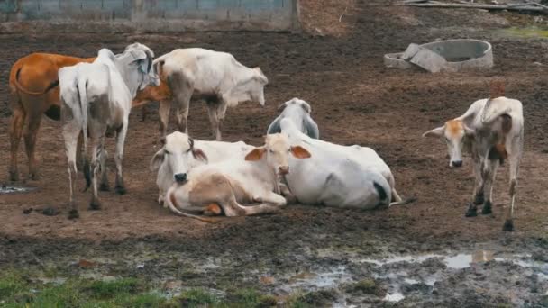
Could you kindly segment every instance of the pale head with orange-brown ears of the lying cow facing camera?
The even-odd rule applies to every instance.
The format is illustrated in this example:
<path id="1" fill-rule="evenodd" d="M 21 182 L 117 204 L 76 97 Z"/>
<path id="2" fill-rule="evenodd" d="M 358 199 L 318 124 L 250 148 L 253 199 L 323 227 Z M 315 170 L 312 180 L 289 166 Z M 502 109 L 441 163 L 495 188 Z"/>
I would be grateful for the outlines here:
<path id="1" fill-rule="evenodd" d="M 266 163 L 271 170 L 274 170 L 279 176 L 285 176 L 289 173 L 289 153 L 297 159 L 307 159 L 310 157 L 310 153 L 305 148 L 301 146 L 291 147 L 288 136 L 277 133 L 267 135 L 265 137 L 265 145 L 252 149 L 245 156 L 245 160 L 266 159 Z"/>

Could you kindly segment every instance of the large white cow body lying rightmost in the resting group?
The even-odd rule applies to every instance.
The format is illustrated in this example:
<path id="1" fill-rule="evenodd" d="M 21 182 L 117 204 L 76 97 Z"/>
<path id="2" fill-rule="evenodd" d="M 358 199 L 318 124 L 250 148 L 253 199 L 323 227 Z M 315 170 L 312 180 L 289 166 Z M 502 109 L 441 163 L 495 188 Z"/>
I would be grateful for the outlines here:
<path id="1" fill-rule="evenodd" d="M 397 195 L 390 168 L 373 149 L 312 139 L 288 118 L 280 127 L 291 144 L 302 145 L 311 154 L 303 161 L 289 159 L 291 172 L 285 179 L 299 202 L 373 209 L 413 201 Z"/>

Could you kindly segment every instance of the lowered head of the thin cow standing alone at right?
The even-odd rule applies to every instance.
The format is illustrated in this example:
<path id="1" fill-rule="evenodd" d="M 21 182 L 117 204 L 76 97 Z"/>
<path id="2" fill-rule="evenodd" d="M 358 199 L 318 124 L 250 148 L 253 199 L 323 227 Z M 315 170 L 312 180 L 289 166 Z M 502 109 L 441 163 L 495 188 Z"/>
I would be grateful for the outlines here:
<path id="1" fill-rule="evenodd" d="M 474 135 L 474 131 L 464 122 L 455 119 L 432 131 L 426 131 L 423 137 L 443 138 L 449 152 L 449 167 L 458 168 L 462 166 L 462 150 L 468 146 Z"/>

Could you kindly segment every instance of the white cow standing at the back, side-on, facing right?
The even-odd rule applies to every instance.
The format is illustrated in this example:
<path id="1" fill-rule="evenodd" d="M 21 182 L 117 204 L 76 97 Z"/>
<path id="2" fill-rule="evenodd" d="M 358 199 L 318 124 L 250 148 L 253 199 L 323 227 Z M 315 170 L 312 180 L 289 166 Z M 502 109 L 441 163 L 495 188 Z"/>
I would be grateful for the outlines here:
<path id="1" fill-rule="evenodd" d="M 227 107 L 245 101 L 264 101 L 264 86 L 269 79 L 260 68 L 247 68 L 233 55 L 214 50 L 189 48 L 173 50 L 154 61 L 165 86 L 142 91 L 134 104 L 160 102 L 160 133 L 168 131 L 171 101 L 177 108 L 178 130 L 188 133 L 190 99 L 204 99 L 216 140 L 221 140 L 221 127 Z M 164 84 L 164 83 L 162 83 Z"/>

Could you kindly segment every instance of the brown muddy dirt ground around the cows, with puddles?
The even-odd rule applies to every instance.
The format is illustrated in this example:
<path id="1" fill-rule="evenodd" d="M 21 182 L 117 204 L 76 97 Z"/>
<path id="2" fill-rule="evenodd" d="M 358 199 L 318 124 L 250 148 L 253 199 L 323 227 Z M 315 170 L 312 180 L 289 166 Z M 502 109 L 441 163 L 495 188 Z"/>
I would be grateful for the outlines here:
<path id="1" fill-rule="evenodd" d="M 270 81 L 267 106 L 230 109 L 225 140 L 259 145 L 278 104 L 297 96 L 312 104 L 324 140 L 376 149 L 392 168 L 400 195 L 418 198 L 375 212 L 293 205 L 276 215 L 224 218 L 215 224 L 176 217 L 156 204 L 156 175 L 148 166 L 159 132 L 157 106 L 151 105 L 145 122 L 139 112 L 131 117 L 123 161 L 129 194 L 102 193 L 104 209 L 89 212 L 88 194 L 78 193 L 81 218 L 69 221 L 60 125 L 44 118 L 38 144 L 41 180 L 17 184 L 38 188 L 0 195 L 0 269 L 33 268 L 40 275 L 53 266 L 62 275 L 140 276 L 167 293 L 195 286 L 219 294 L 253 287 L 278 296 L 279 303 L 301 292 L 313 306 L 548 306 L 548 41 L 508 31 L 544 22 L 533 15 L 384 3 L 350 5 L 342 16 L 344 31 L 337 35 L 324 35 L 333 29 L 0 34 L 2 180 L 9 161 L 7 77 L 15 59 L 32 51 L 92 56 L 102 47 L 120 51 L 140 41 L 157 55 L 199 46 L 260 66 Z M 339 15 L 332 20 L 338 23 Z M 307 29 L 315 28 L 313 22 L 307 21 Z M 383 66 L 385 53 L 405 50 L 411 42 L 452 38 L 489 40 L 495 68 L 434 75 Z M 494 214 L 465 218 L 473 188 L 470 160 L 464 168 L 450 169 L 442 141 L 421 138 L 487 97 L 489 80 L 499 77 L 507 82 L 507 96 L 525 108 L 525 157 L 513 233 L 501 231 L 509 201 L 507 166 L 499 171 Z M 196 139 L 210 139 L 204 104 L 191 106 L 189 131 Z M 107 149 L 114 151 L 112 140 Z M 109 167 L 114 181 L 114 161 Z M 23 149 L 20 171 L 24 178 Z M 83 179 L 78 186 L 84 186 Z M 47 207 L 59 215 L 23 213 Z M 78 267 L 80 259 L 94 266 Z"/>

